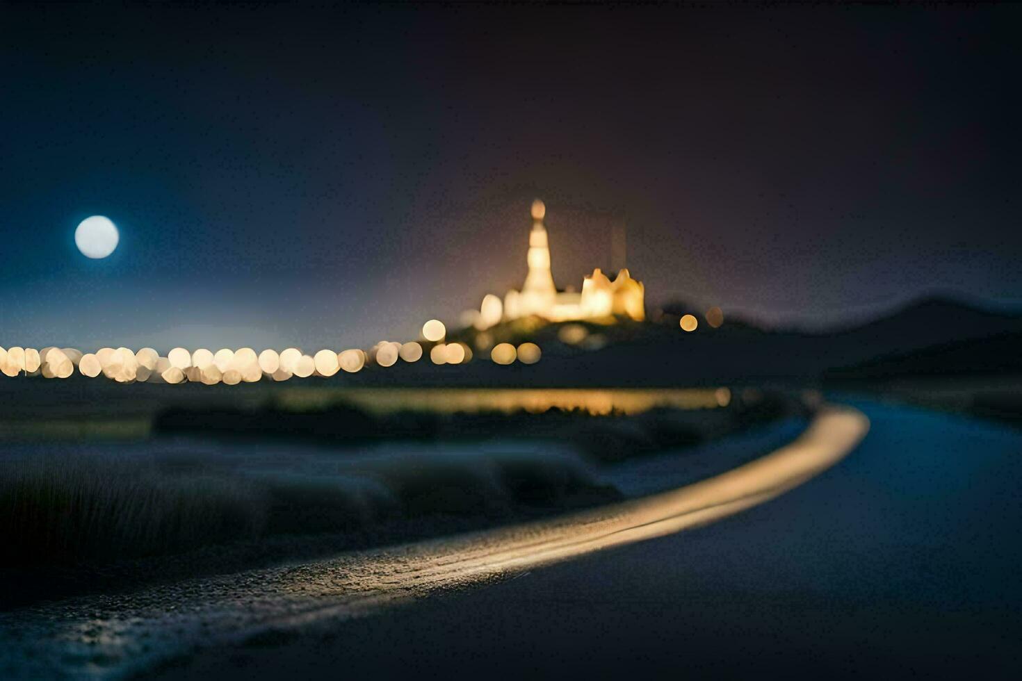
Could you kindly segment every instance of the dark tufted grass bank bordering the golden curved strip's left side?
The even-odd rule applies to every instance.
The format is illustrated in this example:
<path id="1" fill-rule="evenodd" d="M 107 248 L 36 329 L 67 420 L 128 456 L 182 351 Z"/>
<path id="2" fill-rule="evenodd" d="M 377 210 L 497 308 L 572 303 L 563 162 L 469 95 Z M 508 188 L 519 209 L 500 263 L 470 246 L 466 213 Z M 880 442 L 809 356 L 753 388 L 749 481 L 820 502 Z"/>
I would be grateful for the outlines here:
<path id="1" fill-rule="evenodd" d="M 341 455 L 258 444 L 191 455 L 33 455 L 0 461 L 0 536 L 14 565 L 102 564 L 278 534 L 429 515 L 612 498 L 564 451 L 396 447 Z"/>

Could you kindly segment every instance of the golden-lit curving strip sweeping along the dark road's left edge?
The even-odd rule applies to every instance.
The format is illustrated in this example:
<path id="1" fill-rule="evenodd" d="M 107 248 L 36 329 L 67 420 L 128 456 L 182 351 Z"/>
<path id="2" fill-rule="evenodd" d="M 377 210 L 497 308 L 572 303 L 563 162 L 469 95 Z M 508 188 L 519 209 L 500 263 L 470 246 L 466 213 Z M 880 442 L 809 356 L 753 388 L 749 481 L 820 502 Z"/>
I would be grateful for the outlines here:
<path id="1" fill-rule="evenodd" d="M 669 492 L 511 528 L 11 614 L 2 623 L 3 671 L 8 677 L 124 676 L 197 649 L 329 626 L 436 591 L 705 525 L 830 468 L 868 428 L 860 411 L 834 407 L 794 442 Z"/>

